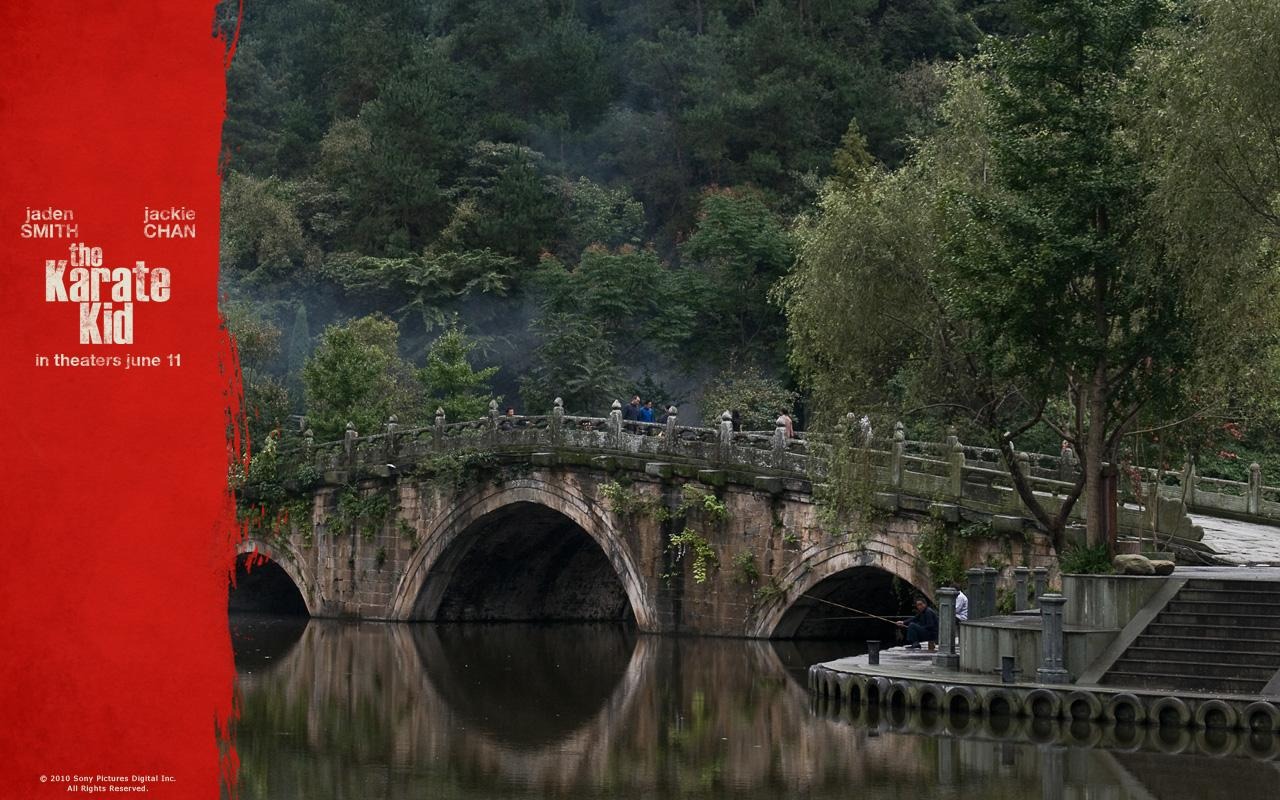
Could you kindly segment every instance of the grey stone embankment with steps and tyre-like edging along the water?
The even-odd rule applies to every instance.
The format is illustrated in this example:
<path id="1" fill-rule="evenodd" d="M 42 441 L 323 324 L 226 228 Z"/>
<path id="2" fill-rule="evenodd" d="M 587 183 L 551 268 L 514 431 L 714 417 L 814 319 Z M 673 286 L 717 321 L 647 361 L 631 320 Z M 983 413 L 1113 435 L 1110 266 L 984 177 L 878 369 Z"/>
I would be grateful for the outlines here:
<path id="1" fill-rule="evenodd" d="M 980 576 L 970 591 L 977 617 L 959 626 L 959 654 L 952 595 L 940 591 L 936 654 L 891 649 L 815 664 L 814 695 L 847 707 L 1280 735 L 1280 570 L 1065 576 L 1065 596 L 1042 595 L 1039 614 L 1004 617 L 987 613 Z"/>

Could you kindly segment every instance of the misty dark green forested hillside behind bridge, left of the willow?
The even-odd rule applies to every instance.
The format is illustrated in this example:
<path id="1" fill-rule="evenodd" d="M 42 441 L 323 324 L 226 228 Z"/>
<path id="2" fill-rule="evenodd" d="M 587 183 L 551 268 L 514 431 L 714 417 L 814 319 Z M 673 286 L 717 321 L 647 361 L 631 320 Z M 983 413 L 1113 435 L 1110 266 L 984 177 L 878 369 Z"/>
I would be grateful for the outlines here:
<path id="1" fill-rule="evenodd" d="M 1001 29 L 995 5 L 247 3 L 224 292 L 288 332 L 253 375 L 300 412 L 302 353 L 383 314 L 415 366 L 457 319 L 492 390 L 530 412 L 643 388 L 691 419 L 731 364 L 782 388 L 768 292 L 791 219 L 851 123 L 902 160 L 933 124 L 931 64 Z"/>

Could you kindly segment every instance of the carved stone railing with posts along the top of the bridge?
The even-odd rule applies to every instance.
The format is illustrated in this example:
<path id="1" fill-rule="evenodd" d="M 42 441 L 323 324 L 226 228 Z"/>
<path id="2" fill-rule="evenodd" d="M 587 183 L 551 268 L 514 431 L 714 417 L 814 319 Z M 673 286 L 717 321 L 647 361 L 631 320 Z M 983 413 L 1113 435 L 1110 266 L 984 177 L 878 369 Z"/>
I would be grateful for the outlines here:
<path id="1" fill-rule="evenodd" d="M 945 442 L 908 439 L 901 422 L 891 436 L 874 436 L 860 430 L 851 415 L 835 434 L 787 436 L 782 425 L 772 433 L 735 431 L 727 413 L 716 428 L 681 425 L 675 407 L 662 422 L 623 420 L 617 402 L 607 417 L 567 415 L 557 398 L 548 415 L 503 416 L 490 403 L 485 417 L 451 422 L 438 410 L 430 426 L 404 428 L 393 417 L 383 430 L 361 434 L 348 424 L 337 442 L 315 442 L 310 431 L 294 433 L 283 436 L 278 449 L 282 458 L 308 463 L 320 472 L 425 461 L 460 451 L 571 448 L 678 457 L 820 480 L 837 436 L 851 442 L 854 457 L 865 463 L 876 483 L 890 489 L 927 498 L 965 499 L 1007 513 L 1025 511 L 1001 451 L 964 444 L 954 433 Z M 1079 476 L 1074 453 L 1019 452 L 1015 457 L 1037 499 L 1056 511 Z M 1129 502 L 1146 504 L 1151 494 L 1158 494 L 1181 500 L 1190 511 L 1280 521 L 1280 486 L 1265 485 L 1256 463 L 1249 481 L 1198 476 L 1189 458 L 1180 471 L 1152 467 L 1126 471 L 1142 484 L 1140 492 L 1126 489 L 1123 499 Z M 1078 503 L 1075 512 L 1083 513 L 1083 504 Z"/>

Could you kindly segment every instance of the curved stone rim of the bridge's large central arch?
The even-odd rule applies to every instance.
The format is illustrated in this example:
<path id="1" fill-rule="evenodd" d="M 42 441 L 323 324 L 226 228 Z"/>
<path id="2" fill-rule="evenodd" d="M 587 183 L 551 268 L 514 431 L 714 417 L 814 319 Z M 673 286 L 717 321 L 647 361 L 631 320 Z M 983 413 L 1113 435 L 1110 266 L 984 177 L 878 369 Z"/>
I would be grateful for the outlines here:
<path id="1" fill-rule="evenodd" d="M 590 484 L 588 484 L 590 485 Z M 390 603 L 392 620 L 434 618 L 445 593 L 475 543 L 502 529 L 507 517 L 532 509 L 544 518 L 562 517 L 590 538 L 603 552 L 630 603 L 640 630 L 657 630 L 658 614 L 645 588 L 636 558 L 612 516 L 579 484 L 548 483 L 538 477 L 483 485 L 463 494 L 452 508 L 434 518 L 410 558 Z"/>

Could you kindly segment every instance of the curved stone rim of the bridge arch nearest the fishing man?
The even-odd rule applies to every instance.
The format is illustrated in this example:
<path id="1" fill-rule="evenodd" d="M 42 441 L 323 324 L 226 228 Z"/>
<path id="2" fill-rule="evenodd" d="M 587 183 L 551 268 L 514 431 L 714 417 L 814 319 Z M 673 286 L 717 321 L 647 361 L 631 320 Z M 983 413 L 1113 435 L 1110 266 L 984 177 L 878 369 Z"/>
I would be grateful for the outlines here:
<path id="1" fill-rule="evenodd" d="M 933 599 L 928 576 L 919 567 L 915 547 L 906 535 L 877 536 L 856 550 L 847 543 L 810 548 L 778 576 L 778 582 L 787 588 L 786 595 L 758 614 L 750 635 L 767 639 L 803 635 L 806 618 L 819 607 L 838 616 L 840 608 L 833 603 L 891 616 L 905 613 L 915 594 Z M 895 584 L 905 596 L 893 591 Z M 876 608 L 867 602 L 838 599 L 841 590 L 850 588 L 888 596 Z"/>

